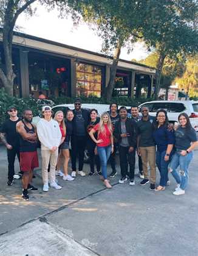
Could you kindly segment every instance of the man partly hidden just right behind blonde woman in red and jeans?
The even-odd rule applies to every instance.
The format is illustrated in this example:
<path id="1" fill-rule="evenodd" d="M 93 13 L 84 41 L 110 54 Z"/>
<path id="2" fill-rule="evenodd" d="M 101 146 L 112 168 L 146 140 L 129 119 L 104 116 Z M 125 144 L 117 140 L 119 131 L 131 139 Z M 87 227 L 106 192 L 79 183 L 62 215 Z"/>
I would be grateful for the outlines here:
<path id="1" fill-rule="evenodd" d="M 115 123 L 119 120 L 120 116 L 118 115 L 118 105 L 117 103 L 113 102 L 109 106 L 109 116 L 111 118 L 111 123 L 113 126 L 113 129 L 115 129 Z M 118 143 L 116 138 L 114 137 L 114 152 L 109 157 L 109 162 L 111 163 L 112 172 L 109 175 L 109 177 L 114 178 L 117 175 L 117 170 L 115 168 L 115 154 L 118 149 Z"/>

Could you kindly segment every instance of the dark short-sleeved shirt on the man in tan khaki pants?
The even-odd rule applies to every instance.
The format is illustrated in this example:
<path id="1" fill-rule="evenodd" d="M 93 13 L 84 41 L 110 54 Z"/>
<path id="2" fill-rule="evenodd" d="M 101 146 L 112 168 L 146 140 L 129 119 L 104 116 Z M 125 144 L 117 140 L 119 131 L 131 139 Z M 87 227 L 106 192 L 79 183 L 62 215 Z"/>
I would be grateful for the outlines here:
<path id="1" fill-rule="evenodd" d="M 148 121 L 144 121 L 143 119 L 141 119 L 137 122 L 137 133 L 138 135 L 140 135 L 140 147 L 155 146 L 155 142 L 152 137 L 152 121 L 153 118 L 149 116 Z"/>

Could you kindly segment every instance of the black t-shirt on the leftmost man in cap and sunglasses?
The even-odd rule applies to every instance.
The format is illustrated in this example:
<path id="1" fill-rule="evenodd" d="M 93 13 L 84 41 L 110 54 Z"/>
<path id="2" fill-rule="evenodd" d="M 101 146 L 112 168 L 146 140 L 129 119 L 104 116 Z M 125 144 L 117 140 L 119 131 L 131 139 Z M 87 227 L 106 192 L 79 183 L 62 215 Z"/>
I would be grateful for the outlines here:
<path id="1" fill-rule="evenodd" d="M 10 145 L 19 148 L 19 133 L 16 132 L 16 124 L 21 121 L 18 119 L 17 121 L 11 121 L 8 119 L 2 124 L 1 132 L 5 133 L 7 143 Z"/>

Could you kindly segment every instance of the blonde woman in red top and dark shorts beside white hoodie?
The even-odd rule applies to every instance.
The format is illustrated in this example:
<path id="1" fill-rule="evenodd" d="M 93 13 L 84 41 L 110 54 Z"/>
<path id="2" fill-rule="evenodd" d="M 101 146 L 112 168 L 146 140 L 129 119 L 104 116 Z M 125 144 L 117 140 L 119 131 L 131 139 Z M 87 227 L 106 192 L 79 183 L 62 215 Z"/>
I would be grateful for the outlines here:
<path id="1" fill-rule="evenodd" d="M 66 124 L 64 122 L 64 113 L 63 111 L 58 111 L 55 113 L 55 117 L 54 119 L 58 122 L 60 130 L 61 130 L 61 134 L 62 134 L 62 138 L 61 138 L 61 144 L 60 144 L 60 153 L 58 155 L 58 162 L 56 165 L 56 175 L 59 175 L 61 177 L 63 177 L 63 180 L 74 180 L 72 176 L 70 176 L 68 174 L 68 162 L 69 162 L 69 158 L 68 158 L 68 154 L 66 150 L 67 148 L 65 147 L 65 138 L 66 138 Z M 61 171 L 61 160 L 63 159 L 63 170 L 64 173 Z"/>

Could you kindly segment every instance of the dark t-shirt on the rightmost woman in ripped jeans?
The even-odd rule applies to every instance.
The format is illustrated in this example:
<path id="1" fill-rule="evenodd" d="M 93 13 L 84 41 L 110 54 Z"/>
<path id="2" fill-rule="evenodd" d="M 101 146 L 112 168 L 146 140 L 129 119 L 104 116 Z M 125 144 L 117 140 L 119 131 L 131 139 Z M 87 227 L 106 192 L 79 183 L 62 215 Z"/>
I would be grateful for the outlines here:
<path id="1" fill-rule="evenodd" d="M 179 126 L 175 132 L 176 136 L 176 149 L 186 150 L 191 146 L 191 142 L 197 141 L 196 131 L 192 129 L 186 129 Z"/>

